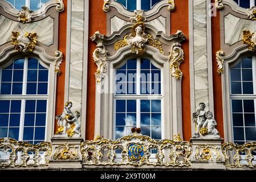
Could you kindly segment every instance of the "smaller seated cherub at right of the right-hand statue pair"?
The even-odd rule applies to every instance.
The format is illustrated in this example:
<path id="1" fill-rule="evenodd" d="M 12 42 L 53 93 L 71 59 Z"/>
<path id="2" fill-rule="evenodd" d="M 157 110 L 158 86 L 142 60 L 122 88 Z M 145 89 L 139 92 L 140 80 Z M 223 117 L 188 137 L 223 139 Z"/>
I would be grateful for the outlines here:
<path id="1" fill-rule="evenodd" d="M 213 113 L 208 111 L 206 114 L 206 120 L 202 128 L 207 129 L 207 133 L 209 135 L 219 135 L 218 130 L 216 129 L 217 122 L 213 119 Z"/>

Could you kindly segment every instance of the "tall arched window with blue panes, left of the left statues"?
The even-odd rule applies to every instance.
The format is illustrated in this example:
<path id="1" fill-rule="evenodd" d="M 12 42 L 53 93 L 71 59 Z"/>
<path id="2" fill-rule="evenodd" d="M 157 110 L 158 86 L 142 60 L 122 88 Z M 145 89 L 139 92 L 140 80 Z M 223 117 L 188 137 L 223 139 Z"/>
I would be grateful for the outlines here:
<path id="1" fill-rule="evenodd" d="M 48 67 L 33 57 L 0 68 L 0 138 L 45 140 Z"/>

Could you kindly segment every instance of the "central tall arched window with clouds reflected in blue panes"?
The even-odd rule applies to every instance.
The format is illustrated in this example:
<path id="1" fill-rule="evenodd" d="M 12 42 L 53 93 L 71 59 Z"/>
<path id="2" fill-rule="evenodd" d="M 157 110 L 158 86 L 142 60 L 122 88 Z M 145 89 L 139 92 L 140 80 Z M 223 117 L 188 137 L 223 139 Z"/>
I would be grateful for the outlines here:
<path id="1" fill-rule="evenodd" d="M 141 134 L 162 138 L 162 69 L 144 58 L 129 59 L 115 70 L 114 132 L 118 139 L 140 127 Z"/>

